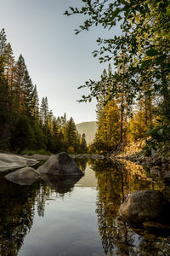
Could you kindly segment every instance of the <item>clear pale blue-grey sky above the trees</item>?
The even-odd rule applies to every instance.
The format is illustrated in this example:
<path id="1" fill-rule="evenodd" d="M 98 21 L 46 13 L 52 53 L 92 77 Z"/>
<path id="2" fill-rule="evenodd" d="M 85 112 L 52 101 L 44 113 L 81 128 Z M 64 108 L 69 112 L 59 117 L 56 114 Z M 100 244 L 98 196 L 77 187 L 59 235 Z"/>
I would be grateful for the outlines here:
<path id="1" fill-rule="evenodd" d="M 93 57 L 96 39 L 117 33 L 95 26 L 76 36 L 74 30 L 84 17 L 63 14 L 81 4 L 81 0 L 0 0 L 0 30 L 5 29 L 15 60 L 24 56 L 40 102 L 47 96 L 54 116 L 66 113 L 76 124 L 96 119 L 95 100 L 77 102 L 88 94 L 87 89 L 77 87 L 88 79 L 99 80 L 108 67 Z"/>

